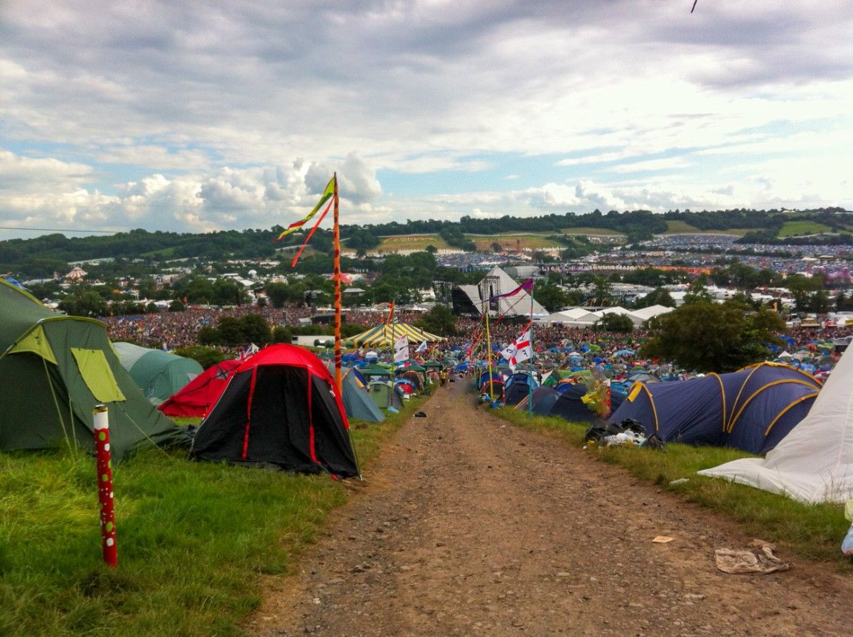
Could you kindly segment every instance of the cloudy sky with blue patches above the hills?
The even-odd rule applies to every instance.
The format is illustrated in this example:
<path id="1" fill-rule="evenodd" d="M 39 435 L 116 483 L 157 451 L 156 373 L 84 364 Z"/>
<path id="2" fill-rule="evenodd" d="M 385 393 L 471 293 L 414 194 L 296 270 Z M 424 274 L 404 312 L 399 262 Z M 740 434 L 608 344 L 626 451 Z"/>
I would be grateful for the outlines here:
<path id="1" fill-rule="evenodd" d="M 853 3 L 692 6 L 0 0 L 0 240 L 853 209 Z"/>

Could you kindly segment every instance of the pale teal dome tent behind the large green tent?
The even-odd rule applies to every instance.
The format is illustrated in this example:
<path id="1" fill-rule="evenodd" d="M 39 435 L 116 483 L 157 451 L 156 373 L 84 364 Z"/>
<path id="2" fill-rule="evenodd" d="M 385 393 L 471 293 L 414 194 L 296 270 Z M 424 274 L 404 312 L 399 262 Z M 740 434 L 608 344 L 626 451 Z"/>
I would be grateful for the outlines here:
<path id="1" fill-rule="evenodd" d="M 121 366 L 151 402 L 165 401 L 204 371 L 192 358 L 151 350 L 132 343 L 113 343 Z"/>

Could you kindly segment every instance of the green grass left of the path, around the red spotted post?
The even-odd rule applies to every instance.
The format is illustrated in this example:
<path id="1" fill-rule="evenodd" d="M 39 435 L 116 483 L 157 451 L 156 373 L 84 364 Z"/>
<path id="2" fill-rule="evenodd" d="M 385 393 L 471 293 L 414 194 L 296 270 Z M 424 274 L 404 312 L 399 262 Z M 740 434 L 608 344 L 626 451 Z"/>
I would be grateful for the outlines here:
<path id="1" fill-rule="evenodd" d="M 412 414 L 353 421 L 362 466 Z M 114 467 L 119 567 L 101 561 L 94 458 L 0 454 L 0 634 L 241 634 L 259 575 L 286 574 L 347 489 L 150 449 Z"/>

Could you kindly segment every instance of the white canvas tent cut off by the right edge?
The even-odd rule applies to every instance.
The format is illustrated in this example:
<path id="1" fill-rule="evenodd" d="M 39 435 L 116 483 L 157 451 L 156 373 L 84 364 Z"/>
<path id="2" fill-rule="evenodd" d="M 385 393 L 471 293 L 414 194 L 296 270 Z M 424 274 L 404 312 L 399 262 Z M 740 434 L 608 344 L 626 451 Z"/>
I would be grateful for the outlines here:
<path id="1" fill-rule="evenodd" d="M 846 350 L 809 414 L 766 458 L 741 458 L 699 474 L 804 502 L 853 495 L 853 354 Z"/>

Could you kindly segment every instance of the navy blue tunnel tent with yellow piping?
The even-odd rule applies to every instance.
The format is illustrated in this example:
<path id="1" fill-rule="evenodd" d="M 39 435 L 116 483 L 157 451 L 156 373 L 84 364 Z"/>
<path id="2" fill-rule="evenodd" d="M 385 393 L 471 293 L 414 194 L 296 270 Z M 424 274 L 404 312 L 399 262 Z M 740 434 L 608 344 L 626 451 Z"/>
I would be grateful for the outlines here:
<path id="1" fill-rule="evenodd" d="M 766 454 L 808 413 L 821 384 L 798 369 L 763 362 L 731 374 L 635 382 L 610 421 L 639 421 L 665 441 Z"/>

